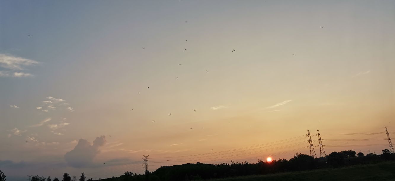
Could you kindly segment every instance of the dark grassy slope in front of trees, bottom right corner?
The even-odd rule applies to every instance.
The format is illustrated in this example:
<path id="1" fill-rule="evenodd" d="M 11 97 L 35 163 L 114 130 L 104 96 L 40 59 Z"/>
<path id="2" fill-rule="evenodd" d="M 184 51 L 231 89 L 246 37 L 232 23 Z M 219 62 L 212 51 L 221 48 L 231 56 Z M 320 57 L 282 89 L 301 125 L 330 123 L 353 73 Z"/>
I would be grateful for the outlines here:
<path id="1" fill-rule="evenodd" d="M 267 175 L 248 175 L 211 181 L 395 181 L 395 162 L 355 165 L 343 168 L 318 169 Z"/>

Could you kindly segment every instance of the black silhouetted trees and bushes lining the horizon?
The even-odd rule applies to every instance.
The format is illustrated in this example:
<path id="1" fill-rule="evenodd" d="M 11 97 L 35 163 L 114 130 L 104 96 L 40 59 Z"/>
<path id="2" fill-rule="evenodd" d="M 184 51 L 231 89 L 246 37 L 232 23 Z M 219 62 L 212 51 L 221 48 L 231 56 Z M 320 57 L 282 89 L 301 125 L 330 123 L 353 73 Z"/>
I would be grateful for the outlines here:
<path id="1" fill-rule="evenodd" d="M 324 171 L 320 171 L 320 172 L 328 172 L 327 170 L 339 170 L 339 169 L 340 170 L 354 169 L 355 171 L 355 168 L 358 168 L 358 166 L 356 167 L 354 166 L 353 168 L 348 168 L 348 167 L 353 165 L 359 165 L 359 166 L 365 165 L 365 167 L 363 167 L 363 170 L 365 170 L 364 172 L 371 173 L 371 171 L 369 171 L 370 167 L 366 165 L 380 163 L 380 164 L 391 164 L 392 165 L 391 168 L 395 167 L 394 162 L 388 162 L 388 161 L 395 161 L 395 153 L 391 153 L 387 149 L 384 149 L 382 151 L 382 155 L 368 154 L 366 156 L 364 156 L 363 153 L 361 152 L 357 154 L 353 150 L 341 151 L 341 152 L 334 151 L 329 155 L 327 155 L 326 157 L 320 157 L 316 159 L 314 159 L 310 155 L 296 153 L 290 160 L 279 159 L 279 160 L 273 160 L 271 162 L 258 160 L 257 163 L 248 163 L 246 161 L 243 163 L 231 162 L 230 164 L 229 163 L 204 164 L 199 162 L 196 164 L 187 163 L 187 164 L 174 165 L 174 166 L 161 166 L 156 171 L 152 173 L 147 172 L 145 175 L 141 175 L 141 174 L 137 175 L 134 174 L 133 172 L 125 172 L 123 175 L 120 175 L 119 177 L 112 177 L 112 178 L 101 179 L 101 180 L 103 181 L 189 181 L 189 180 L 207 180 L 207 179 L 220 179 L 220 180 L 265 179 L 266 180 L 269 179 L 269 177 L 272 177 L 273 174 L 277 175 L 276 177 L 278 179 L 275 180 L 305 180 L 303 179 L 303 177 L 301 177 L 301 175 L 303 175 L 306 172 L 312 172 L 311 170 L 316 170 L 316 169 L 324 169 Z M 344 166 L 348 166 L 348 167 L 342 168 Z M 389 173 L 392 173 L 392 177 L 395 178 L 395 169 L 393 169 L 393 171 Z M 374 173 L 372 172 L 372 174 Z M 296 175 L 299 175 L 300 177 Z M 244 177 L 239 177 L 239 176 L 244 176 Z M 369 177 L 369 178 L 373 178 L 373 177 Z M 84 173 L 82 173 L 79 181 L 85 181 L 85 179 L 86 176 Z M 314 178 L 312 179 L 314 180 Z M 337 179 L 336 175 L 329 174 L 328 172 L 328 178 L 321 180 L 335 180 L 335 179 Z M 69 174 L 64 173 L 61 180 L 71 181 L 71 177 Z M 92 179 L 87 179 L 87 181 L 91 181 L 91 180 Z M 0 181 L 6 181 L 6 176 L 1 170 L 0 170 Z M 51 181 L 51 177 L 48 176 L 48 178 L 45 178 L 36 175 L 32 177 L 32 181 Z M 55 177 L 53 181 L 59 181 L 59 179 Z"/>

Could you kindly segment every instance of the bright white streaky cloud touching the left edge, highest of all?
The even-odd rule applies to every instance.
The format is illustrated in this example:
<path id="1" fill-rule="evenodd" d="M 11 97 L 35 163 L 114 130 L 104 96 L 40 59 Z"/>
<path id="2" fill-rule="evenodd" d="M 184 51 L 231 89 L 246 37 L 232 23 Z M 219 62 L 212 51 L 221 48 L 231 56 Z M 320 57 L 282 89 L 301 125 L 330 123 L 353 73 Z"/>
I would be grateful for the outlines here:
<path id="1" fill-rule="evenodd" d="M 15 57 L 13 55 L 0 54 L 0 67 L 7 71 L 0 71 L 0 77 L 29 77 L 32 74 L 23 72 L 14 72 L 15 70 L 24 70 L 24 67 L 36 65 L 37 61 Z"/>

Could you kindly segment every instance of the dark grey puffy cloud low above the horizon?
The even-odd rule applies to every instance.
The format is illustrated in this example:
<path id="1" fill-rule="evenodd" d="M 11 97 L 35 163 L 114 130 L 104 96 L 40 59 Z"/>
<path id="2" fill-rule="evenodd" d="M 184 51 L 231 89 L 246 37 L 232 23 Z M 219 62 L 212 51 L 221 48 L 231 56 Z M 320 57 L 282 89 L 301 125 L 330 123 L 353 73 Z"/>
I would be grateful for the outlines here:
<path id="1" fill-rule="evenodd" d="M 91 166 L 94 157 L 100 153 L 99 147 L 103 146 L 105 142 L 105 136 L 96 137 L 93 145 L 87 140 L 80 139 L 77 146 L 64 155 L 64 159 L 69 166 L 75 168 Z"/>

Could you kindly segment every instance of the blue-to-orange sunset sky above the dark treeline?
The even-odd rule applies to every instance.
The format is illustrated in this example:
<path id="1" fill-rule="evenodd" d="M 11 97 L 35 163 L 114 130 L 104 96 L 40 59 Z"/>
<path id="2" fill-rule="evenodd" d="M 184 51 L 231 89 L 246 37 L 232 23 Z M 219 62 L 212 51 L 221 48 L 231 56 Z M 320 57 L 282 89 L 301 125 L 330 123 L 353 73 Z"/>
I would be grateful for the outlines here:
<path id="1" fill-rule="evenodd" d="M 326 154 L 380 153 L 394 30 L 391 0 L 1 1 L 0 170 L 289 159 L 307 129 Z"/>

